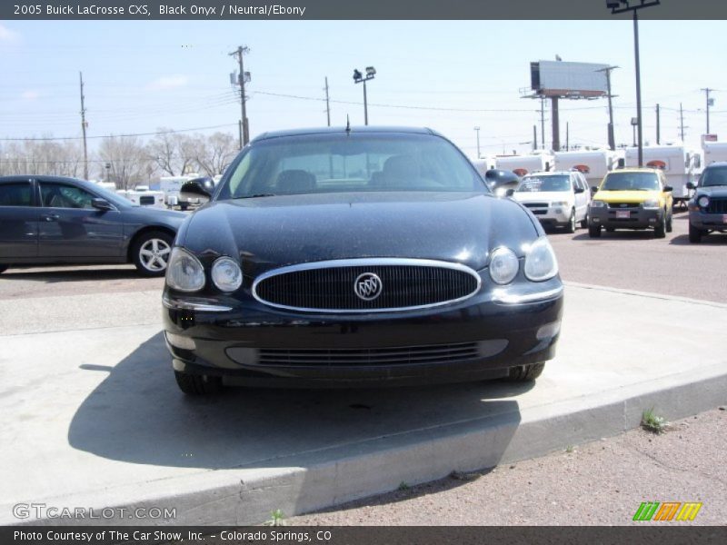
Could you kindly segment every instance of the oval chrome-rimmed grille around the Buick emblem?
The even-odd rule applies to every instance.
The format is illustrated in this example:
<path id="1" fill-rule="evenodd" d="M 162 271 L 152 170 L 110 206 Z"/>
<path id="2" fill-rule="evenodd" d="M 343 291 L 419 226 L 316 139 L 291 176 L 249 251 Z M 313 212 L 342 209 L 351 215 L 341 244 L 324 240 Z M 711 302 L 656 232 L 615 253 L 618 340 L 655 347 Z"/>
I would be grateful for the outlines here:
<path id="1" fill-rule="evenodd" d="M 373 272 L 381 294 L 364 301 L 354 282 Z M 461 301 L 480 287 L 472 269 L 456 263 L 381 258 L 305 263 L 266 272 L 253 284 L 254 297 L 272 306 L 314 312 L 385 312 Z"/>

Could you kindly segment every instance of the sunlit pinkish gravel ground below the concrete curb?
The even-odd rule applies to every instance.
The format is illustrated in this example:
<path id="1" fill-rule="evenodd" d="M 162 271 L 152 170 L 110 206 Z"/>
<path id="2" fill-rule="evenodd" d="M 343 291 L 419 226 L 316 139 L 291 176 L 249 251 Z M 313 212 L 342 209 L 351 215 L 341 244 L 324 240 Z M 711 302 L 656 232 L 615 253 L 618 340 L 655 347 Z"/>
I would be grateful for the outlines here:
<path id="1" fill-rule="evenodd" d="M 727 411 L 293 517 L 294 525 L 625 525 L 642 501 L 702 501 L 693 522 L 727 524 Z"/>

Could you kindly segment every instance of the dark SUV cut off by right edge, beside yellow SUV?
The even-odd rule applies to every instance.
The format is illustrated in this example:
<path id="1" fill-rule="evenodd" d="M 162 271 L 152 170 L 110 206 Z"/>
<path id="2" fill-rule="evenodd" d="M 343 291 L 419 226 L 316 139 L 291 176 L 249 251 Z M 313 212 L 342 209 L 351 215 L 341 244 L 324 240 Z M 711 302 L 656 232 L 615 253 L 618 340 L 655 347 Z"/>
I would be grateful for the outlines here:
<path id="1" fill-rule="evenodd" d="M 702 235 L 727 233 L 727 163 L 712 163 L 704 169 L 689 201 L 689 242 L 701 243 Z"/>

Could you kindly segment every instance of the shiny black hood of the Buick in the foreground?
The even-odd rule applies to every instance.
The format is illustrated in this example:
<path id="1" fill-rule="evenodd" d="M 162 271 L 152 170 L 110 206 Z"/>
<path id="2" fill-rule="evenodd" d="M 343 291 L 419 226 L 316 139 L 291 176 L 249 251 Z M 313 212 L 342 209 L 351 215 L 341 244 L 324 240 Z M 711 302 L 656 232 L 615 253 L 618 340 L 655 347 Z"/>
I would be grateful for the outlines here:
<path id="1" fill-rule="evenodd" d="M 205 261 L 238 255 L 254 276 L 334 259 L 408 257 L 483 269 L 499 245 L 523 254 L 542 233 L 520 204 L 482 193 L 317 193 L 237 199 L 197 210 L 177 244 Z"/>

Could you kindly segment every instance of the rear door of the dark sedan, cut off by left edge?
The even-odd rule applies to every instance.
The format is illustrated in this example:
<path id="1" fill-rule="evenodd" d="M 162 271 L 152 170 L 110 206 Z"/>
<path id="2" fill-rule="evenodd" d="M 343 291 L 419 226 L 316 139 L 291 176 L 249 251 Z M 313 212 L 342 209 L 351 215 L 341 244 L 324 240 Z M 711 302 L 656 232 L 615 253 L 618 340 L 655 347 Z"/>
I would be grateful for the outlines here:
<path id="1" fill-rule="evenodd" d="M 30 262 L 38 256 L 38 218 L 35 184 L 29 178 L 0 182 L 0 260 Z M 11 260 L 11 261 L 8 261 Z"/>

